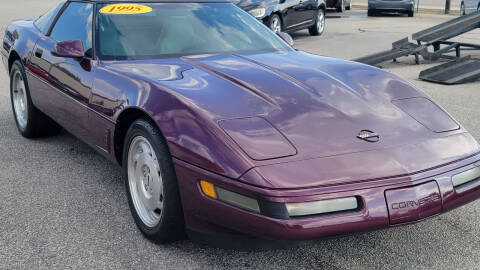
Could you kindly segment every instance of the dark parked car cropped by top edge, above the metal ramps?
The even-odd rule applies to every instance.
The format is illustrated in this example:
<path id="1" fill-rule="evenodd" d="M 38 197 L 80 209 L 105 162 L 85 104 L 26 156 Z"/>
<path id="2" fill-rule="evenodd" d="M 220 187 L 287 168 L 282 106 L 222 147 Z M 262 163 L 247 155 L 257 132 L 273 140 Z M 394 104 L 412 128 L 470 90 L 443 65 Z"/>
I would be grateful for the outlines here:
<path id="1" fill-rule="evenodd" d="M 368 16 L 383 12 L 405 13 L 408 17 L 415 14 L 414 0 L 368 0 Z"/>

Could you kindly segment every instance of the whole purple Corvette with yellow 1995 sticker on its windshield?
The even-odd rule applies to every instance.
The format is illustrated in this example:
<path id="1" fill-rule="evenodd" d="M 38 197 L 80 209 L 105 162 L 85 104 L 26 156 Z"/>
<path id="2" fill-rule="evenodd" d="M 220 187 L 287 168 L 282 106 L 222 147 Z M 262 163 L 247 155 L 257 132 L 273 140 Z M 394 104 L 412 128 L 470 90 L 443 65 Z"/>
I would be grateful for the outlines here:
<path id="1" fill-rule="evenodd" d="M 480 196 L 478 143 L 428 96 L 289 43 L 221 0 L 90 0 L 13 21 L 1 54 L 20 133 L 119 164 L 157 243 L 315 239 Z"/>

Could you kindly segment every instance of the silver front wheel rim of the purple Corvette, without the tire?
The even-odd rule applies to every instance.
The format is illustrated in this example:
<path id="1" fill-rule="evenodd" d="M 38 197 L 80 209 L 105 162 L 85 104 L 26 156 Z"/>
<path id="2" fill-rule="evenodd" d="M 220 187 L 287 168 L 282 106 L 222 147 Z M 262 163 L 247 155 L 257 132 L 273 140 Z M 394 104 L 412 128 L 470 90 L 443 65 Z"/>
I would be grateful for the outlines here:
<path id="1" fill-rule="evenodd" d="M 162 218 L 163 180 L 155 151 L 145 137 L 132 140 L 127 162 L 133 205 L 142 222 L 153 228 Z"/>

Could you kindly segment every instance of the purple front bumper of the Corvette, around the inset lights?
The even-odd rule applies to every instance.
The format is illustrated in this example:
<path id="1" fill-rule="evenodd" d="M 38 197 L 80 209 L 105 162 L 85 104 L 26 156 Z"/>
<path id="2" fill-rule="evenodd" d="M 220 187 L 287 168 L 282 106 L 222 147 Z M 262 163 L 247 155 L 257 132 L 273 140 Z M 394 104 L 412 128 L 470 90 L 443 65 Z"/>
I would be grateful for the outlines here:
<path id="1" fill-rule="evenodd" d="M 480 166 L 478 155 L 414 176 L 304 190 L 272 190 L 251 186 L 212 174 L 180 160 L 175 160 L 175 166 L 186 226 L 189 230 L 206 234 L 309 240 L 417 222 L 480 197 L 480 180 L 473 181 L 461 190 L 456 190 L 452 184 L 453 175 Z M 201 179 L 208 179 L 217 186 L 268 203 L 283 204 L 356 196 L 361 199 L 361 208 L 358 211 L 305 218 L 272 218 L 205 196 L 198 184 Z M 434 191 L 435 189 L 437 191 Z M 413 193 L 409 193 L 409 190 Z M 405 194 L 405 197 L 402 197 L 402 194 Z M 409 194 L 416 195 L 416 199 L 409 197 Z M 404 205 L 413 207 L 410 209 L 413 211 L 403 213 Z"/>

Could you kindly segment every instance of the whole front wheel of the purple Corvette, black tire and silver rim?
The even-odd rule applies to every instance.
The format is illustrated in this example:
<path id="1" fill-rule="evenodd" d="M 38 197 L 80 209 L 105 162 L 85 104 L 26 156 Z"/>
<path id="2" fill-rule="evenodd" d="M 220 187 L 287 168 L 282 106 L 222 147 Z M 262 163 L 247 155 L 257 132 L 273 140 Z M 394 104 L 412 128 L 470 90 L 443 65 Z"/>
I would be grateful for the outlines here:
<path id="1" fill-rule="evenodd" d="M 123 149 L 122 175 L 137 227 L 157 244 L 184 238 L 177 177 L 160 131 L 147 120 L 136 120 L 127 131 Z"/>

